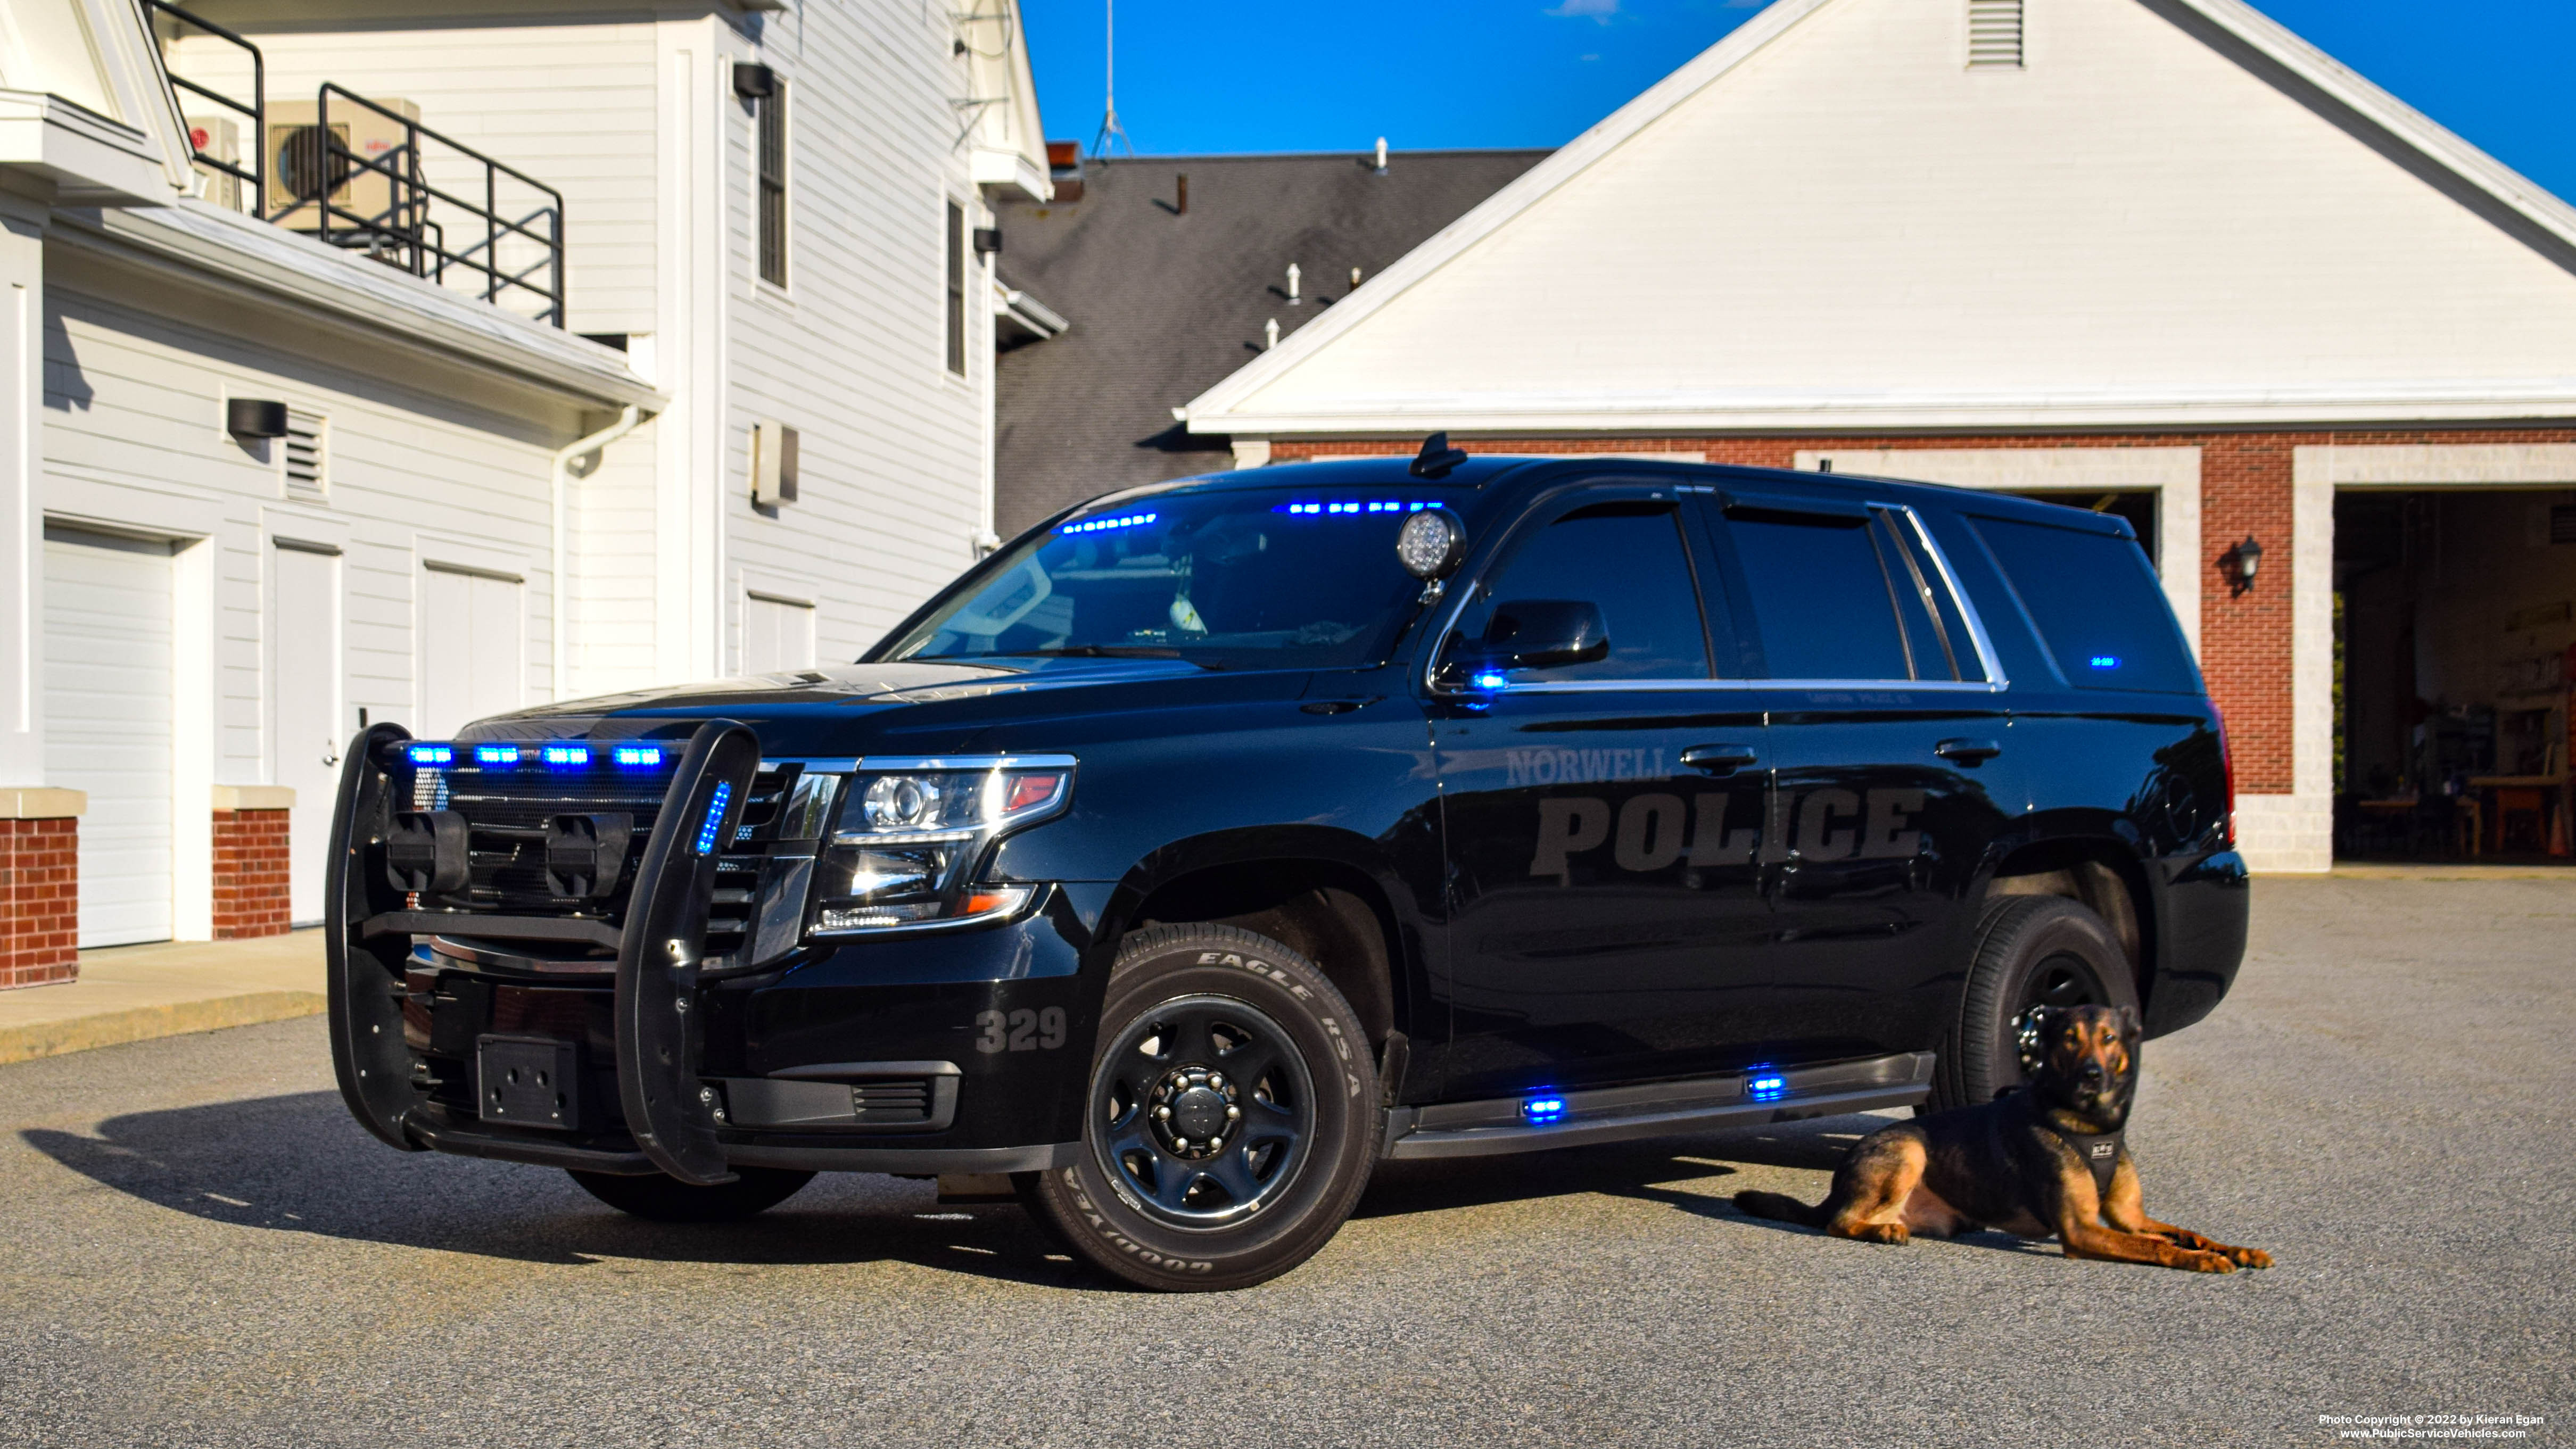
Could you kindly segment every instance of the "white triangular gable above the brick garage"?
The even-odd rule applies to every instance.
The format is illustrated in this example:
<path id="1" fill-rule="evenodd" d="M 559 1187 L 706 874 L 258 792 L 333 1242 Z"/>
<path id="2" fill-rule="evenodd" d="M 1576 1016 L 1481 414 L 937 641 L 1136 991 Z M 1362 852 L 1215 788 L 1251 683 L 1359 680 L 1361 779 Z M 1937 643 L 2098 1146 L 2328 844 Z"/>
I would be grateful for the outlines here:
<path id="1" fill-rule="evenodd" d="M 2576 414 L 2576 208 L 2239 0 L 2027 36 L 1973 75 L 1963 3 L 1777 0 L 1190 430 Z"/>

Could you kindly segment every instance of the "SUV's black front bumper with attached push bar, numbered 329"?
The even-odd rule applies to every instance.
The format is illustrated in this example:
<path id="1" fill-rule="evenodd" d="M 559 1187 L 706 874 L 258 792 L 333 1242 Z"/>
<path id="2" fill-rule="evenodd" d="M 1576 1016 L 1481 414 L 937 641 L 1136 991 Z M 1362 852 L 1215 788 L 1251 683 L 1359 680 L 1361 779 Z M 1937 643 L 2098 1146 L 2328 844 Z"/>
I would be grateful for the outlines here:
<path id="1" fill-rule="evenodd" d="M 690 770 L 701 731 L 647 844 L 616 973 L 531 970 L 464 934 L 497 921 L 415 921 L 384 885 L 392 813 L 376 762 L 399 741 L 379 726 L 350 752 L 327 932 L 343 1096 L 386 1143 L 683 1181 L 724 1181 L 734 1166 L 1007 1174 L 1072 1161 L 1100 983 L 1079 970 L 1090 932 L 1061 888 L 997 927 L 701 978 L 703 870 L 685 844 L 708 782 L 747 780 L 755 764 L 708 752 L 708 770 Z M 672 849 L 657 849 L 665 834 Z M 564 1120 L 500 1120 L 479 1081 L 492 1040 L 567 1045 Z"/>

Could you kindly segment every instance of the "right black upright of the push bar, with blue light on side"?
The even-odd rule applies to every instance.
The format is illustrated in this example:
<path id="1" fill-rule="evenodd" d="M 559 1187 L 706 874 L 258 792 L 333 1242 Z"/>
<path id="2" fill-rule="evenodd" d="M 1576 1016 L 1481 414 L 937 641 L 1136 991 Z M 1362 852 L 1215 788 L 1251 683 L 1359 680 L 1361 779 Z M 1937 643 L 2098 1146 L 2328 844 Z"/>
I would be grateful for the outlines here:
<path id="1" fill-rule="evenodd" d="M 618 945 L 618 1104 L 626 1130 L 657 1168 L 698 1186 L 734 1181 L 716 1117 L 698 1096 L 703 1032 L 696 1011 L 716 857 L 734 839 L 757 772 L 760 736 L 747 726 L 698 726 L 662 793 Z"/>

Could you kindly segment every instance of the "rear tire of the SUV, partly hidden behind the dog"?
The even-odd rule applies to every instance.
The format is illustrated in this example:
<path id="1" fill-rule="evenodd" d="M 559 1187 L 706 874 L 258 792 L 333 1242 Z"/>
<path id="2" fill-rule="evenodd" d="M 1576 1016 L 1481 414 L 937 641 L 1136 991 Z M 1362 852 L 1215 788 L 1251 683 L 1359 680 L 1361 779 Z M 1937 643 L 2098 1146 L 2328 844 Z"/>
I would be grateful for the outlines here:
<path id="1" fill-rule="evenodd" d="M 1994 1102 L 2030 1081 L 2022 1027 L 2040 1004 L 2136 1009 L 2138 981 L 2102 916 L 2063 896 L 2007 896 L 1976 924 L 1968 988 L 1924 1112 Z"/>

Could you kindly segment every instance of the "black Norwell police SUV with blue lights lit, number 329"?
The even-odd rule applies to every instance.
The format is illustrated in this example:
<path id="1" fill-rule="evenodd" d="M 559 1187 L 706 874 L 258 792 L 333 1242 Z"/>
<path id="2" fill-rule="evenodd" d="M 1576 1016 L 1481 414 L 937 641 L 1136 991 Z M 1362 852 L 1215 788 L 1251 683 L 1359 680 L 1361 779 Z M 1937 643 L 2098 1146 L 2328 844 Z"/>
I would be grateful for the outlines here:
<path id="1" fill-rule="evenodd" d="M 647 1217 L 1015 1192 L 1244 1287 L 1381 1158 L 2012 1089 L 2236 975 L 2218 713 L 2128 525 L 1419 458 L 1030 530 L 848 667 L 361 734 L 332 1050 L 407 1150 Z"/>

